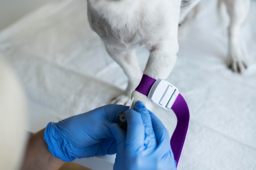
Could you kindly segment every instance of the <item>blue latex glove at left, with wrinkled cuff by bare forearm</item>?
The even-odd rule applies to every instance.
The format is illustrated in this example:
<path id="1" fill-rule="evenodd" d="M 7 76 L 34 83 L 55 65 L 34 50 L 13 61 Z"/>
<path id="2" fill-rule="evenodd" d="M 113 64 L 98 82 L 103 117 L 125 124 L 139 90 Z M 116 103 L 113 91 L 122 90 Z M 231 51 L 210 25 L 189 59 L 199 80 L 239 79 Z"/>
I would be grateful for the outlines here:
<path id="1" fill-rule="evenodd" d="M 115 154 L 115 137 L 109 126 L 127 109 L 123 105 L 106 105 L 58 123 L 48 123 L 44 139 L 49 151 L 63 161 Z"/>

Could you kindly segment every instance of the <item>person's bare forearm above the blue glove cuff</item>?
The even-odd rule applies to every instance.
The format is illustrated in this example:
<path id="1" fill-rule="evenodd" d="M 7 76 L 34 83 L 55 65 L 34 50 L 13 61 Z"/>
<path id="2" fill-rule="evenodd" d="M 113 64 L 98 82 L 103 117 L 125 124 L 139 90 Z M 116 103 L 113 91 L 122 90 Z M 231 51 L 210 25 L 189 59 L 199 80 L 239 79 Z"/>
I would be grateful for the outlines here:
<path id="1" fill-rule="evenodd" d="M 48 150 L 44 131 L 40 130 L 29 139 L 21 170 L 58 170 L 65 163 Z"/>

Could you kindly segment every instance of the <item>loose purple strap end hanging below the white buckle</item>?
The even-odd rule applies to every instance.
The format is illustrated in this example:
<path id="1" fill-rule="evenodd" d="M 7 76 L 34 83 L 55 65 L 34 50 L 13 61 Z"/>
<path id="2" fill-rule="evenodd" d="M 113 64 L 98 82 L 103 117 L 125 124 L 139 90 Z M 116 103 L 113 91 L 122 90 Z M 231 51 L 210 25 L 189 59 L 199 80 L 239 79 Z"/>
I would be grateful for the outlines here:
<path id="1" fill-rule="evenodd" d="M 182 147 L 186 138 L 186 132 L 189 127 L 189 107 L 186 101 L 179 94 L 171 107 L 177 117 L 177 125 L 171 137 L 171 148 L 173 150 L 174 159 L 178 165 Z"/>

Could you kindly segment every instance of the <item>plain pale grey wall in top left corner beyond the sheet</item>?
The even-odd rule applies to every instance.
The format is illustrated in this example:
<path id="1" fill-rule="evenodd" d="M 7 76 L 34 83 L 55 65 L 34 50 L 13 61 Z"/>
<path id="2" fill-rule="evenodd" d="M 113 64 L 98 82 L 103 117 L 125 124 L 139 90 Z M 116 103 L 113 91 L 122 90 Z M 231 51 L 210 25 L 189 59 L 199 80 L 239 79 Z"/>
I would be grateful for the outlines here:
<path id="1" fill-rule="evenodd" d="M 0 0 L 0 30 L 51 0 Z"/>

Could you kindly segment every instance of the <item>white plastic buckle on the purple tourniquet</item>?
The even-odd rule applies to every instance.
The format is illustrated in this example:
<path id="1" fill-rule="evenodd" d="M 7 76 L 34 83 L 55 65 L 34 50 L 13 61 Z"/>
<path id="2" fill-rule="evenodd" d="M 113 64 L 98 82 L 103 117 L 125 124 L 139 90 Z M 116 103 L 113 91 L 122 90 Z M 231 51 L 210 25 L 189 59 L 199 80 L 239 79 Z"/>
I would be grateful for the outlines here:
<path id="1" fill-rule="evenodd" d="M 157 79 L 148 93 L 148 98 L 165 109 L 171 109 L 178 94 L 179 90 L 174 85 Z"/>

